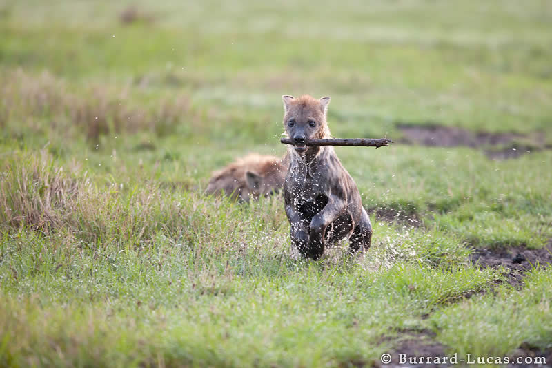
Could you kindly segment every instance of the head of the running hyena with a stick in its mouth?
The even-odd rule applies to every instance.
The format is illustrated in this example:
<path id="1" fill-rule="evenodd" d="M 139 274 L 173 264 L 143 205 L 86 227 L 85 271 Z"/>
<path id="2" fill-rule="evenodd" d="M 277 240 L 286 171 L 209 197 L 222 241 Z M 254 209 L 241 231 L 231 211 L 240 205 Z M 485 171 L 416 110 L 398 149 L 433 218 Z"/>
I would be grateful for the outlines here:
<path id="1" fill-rule="evenodd" d="M 284 129 L 288 137 L 293 139 L 295 152 L 305 153 L 306 142 L 310 139 L 331 137 L 326 123 L 330 97 L 315 99 L 309 95 L 297 98 L 284 95 L 282 100 L 284 101 Z"/>

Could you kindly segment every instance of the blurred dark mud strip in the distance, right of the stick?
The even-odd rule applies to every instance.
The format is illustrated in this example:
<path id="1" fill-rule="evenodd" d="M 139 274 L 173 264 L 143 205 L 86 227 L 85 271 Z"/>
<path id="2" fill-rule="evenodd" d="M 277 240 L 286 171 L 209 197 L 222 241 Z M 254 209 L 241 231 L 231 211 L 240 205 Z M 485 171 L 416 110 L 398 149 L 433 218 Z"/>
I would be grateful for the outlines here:
<path id="1" fill-rule="evenodd" d="M 436 122 L 427 122 L 423 125 L 397 122 L 397 128 L 401 130 L 404 136 L 400 139 L 400 142 L 430 147 L 467 146 L 482 148 L 490 159 L 517 158 L 525 153 L 551 148 L 550 146 L 544 146 L 544 136 L 542 135 L 472 132 L 453 126 L 442 126 Z M 531 140 L 535 142 L 535 146 L 520 144 L 520 140 Z M 491 146 L 498 147 L 491 148 Z"/>

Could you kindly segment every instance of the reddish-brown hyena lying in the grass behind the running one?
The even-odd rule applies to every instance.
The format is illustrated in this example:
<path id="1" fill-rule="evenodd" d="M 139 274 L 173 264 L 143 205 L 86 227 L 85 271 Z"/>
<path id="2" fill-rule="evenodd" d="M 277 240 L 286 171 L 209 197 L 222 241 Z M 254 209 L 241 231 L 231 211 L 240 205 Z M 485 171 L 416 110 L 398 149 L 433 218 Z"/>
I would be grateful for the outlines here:
<path id="1" fill-rule="evenodd" d="M 287 171 L 282 158 L 251 153 L 215 171 L 206 193 L 224 194 L 241 202 L 258 200 L 278 192 L 284 186 Z"/>

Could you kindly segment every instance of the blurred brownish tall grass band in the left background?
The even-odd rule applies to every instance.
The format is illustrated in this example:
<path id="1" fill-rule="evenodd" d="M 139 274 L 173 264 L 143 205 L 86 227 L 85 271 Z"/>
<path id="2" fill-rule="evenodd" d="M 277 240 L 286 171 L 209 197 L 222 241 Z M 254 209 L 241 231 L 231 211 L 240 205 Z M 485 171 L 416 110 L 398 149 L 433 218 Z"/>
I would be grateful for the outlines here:
<path id="1" fill-rule="evenodd" d="M 24 124 L 37 132 L 54 129 L 65 137 L 97 140 L 109 133 L 151 130 L 173 132 L 177 124 L 197 120 L 184 93 L 157 99 L 154 106 L 132 101 L 133 86 L 80 86 L 74 93 L 63 79 L 44 70 L 38 75 L 22 69 L 0 70 L 0 124 Z"/>

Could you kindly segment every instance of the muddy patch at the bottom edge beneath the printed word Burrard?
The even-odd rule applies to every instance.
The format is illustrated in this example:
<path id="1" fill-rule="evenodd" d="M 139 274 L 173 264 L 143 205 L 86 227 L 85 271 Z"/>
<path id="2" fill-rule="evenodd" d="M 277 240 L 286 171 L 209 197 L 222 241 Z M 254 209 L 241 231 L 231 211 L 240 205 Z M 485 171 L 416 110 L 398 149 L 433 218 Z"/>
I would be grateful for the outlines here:
<path id="1" fill-rule="evenodd" d="M 397 348 L 391 352 L 391 362 L 387 365 L 376 365 L 377 367 L 449 367 L 442 364 L 442 358 L 446 356 L 446 346 L 434 340 L 435 333 L 428 330 L 411 331 L 398 338 Z M 400 364 L 399 354 L 405 354 L 406 362 Z M 437 358 L 439 360 L 426 361 L 426 358 Z"/>

